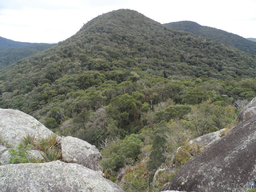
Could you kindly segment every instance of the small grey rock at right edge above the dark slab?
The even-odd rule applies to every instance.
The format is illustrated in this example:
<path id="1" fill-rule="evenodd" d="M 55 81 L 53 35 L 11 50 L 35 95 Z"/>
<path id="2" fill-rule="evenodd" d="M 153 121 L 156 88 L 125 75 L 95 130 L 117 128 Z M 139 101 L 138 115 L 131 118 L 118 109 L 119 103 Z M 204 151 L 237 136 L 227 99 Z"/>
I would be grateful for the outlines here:
<path id="1" fill-rule="evenodd" d="M 237 120 L 243 121 L 256 114 L 256 97 L 253 98 L 238 114 Z"/>

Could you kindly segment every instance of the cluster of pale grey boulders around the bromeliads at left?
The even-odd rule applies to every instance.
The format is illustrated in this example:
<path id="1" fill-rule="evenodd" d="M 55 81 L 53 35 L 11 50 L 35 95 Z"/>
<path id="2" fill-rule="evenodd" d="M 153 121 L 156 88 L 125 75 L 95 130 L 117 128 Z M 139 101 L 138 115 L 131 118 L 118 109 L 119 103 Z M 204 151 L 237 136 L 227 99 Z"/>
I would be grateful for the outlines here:
<path id="1" fill-rule="evenodd" d="M 95 146 L 78 138 L 59 137 L 65 162 L 8 164 L 8 148 L 16 148 L 27 134 L 46 138 L 53 132 L 35 118 L 18 110 L 0 109 L 0 189 L 14 191 L 79 191 L 121 192 L 119 186 L 102 177 L 98 161 L 102 158 Z M 6 144 L 8 143 L 8 144 Z M 41 151 L 29 150 L 39 160 Z"/>

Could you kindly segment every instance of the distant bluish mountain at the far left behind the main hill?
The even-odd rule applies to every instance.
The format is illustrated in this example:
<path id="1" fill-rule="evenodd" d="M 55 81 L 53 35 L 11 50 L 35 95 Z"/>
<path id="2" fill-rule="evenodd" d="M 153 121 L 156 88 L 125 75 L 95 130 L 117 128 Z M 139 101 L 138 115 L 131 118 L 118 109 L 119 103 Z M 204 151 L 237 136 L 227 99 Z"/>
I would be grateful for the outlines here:
<path id="1" fill-rule="evenodd" d="M 51 46 L 47 43 L 17 42 L 0 37 L 0 69 Z"/>

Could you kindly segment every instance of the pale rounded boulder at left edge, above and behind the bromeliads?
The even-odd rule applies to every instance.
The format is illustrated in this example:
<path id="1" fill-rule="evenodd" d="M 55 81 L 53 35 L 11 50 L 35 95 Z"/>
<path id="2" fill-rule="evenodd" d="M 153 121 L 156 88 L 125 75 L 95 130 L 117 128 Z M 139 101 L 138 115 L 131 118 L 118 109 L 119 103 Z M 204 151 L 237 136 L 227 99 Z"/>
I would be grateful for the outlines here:
<path id="1" fill-rule="evenodd" d="M 53 132 L 32 116 L 13 109 L 0 109 L 0 133 L 4 140 L 12 145 L 17 145 L 27 134 L 35 134 L 37 137 L 47 137 Z"/>

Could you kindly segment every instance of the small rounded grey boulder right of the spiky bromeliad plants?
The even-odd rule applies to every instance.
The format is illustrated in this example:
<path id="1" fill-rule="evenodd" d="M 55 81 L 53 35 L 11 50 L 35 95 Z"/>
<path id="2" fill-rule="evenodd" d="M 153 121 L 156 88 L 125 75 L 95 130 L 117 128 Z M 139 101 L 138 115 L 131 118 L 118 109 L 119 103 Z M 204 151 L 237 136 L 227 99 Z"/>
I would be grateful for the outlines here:
<path id="1" fill-rule="evenodd" d="M 95 146 L 71 136 L 61 139 L 62 158 L 68 163 L 77 163 L 92 170 L 99 170 L 102 156 Z"/>

